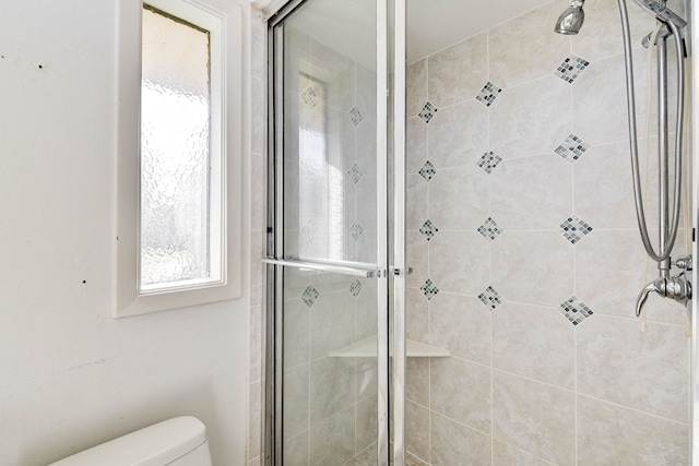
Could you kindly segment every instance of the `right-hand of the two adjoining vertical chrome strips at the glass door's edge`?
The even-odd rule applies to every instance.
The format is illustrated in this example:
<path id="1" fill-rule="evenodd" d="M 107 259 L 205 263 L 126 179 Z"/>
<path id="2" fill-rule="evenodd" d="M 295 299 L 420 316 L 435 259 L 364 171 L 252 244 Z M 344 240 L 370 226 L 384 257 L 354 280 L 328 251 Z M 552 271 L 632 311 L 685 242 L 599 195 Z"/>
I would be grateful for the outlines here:
<path id="1" fill-rule="evenodd" d="M 394 0 L 393 31 L 393 465 L 405 465 L 405 287 L 412 268 L 405 266 L 405 117 L 406 0 Z"/>

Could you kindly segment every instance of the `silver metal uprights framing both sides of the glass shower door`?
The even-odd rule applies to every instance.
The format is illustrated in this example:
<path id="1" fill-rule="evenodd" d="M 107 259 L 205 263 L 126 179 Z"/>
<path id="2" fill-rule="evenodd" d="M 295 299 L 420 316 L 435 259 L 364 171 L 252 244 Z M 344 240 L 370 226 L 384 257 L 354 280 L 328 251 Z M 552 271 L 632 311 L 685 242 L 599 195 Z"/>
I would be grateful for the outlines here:
<path id="1" fill-rule="evenodd" d="M 283 306 L 284 266 L 284 45 L 283 22 L 309 0 L 289 0 L 268 16 L 268 190 L 265 259 L 265 356 L 264 414 L 262 419 L 264 465 L 281 465 L 283 332 L 277 309 Z M 389 128 L 389 1 L 393 1 L 393 152 L 388 148 Z M 377 48 L 377 465 L 389 464 L 389 440 L 393 443 L 393 464 L 404 465 L 405 386 L 405 0 L 376 0 Z M 281 86 L 279 83 L 282 83 Z M 281 88 L 280 88 L 281 87 Z M 400 89 L 400 92 L 395 92 Z M 379 97 L 383 98 L 379 98 Z M 394 169 L 393 264 L 389 264 L 388 160 Z M 298 265 L 298 264 L 296 264 Z M 347 272 L 344 266 L 305 264 L 328 272 Z M 343 271 L 343 268 L 345 268 Z M 389 274 L 393 298 L 389 322 Z M 389 346 L 392 346 L 389 350 Z M 389 353 L 391 356 L 389 356 Z M 393 360 L 389 385 L 390 359 Z M 389 419 L 391 404 L 392 419 Z"/>

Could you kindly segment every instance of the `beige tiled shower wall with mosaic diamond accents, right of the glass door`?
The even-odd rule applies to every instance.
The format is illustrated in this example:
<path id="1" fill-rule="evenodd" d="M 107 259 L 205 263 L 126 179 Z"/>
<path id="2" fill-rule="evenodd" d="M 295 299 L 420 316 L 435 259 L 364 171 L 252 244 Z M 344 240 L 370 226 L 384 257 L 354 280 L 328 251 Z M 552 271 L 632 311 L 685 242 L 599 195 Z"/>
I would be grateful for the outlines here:
<path id="1" fill-rule="evenodd" d="M 685 310 L 650 301 L 644 333 L 635 316 L 656 271 L 636 227 L 617 2 L 588 2 L 572 37 L 553 33 L 566 7 L 408 67 L 408 337 L 451 351 L 408 360 L 407 446 L 426 463 L 689 461 Z M 644 100 L 653 21 L 629 8 Z"/>

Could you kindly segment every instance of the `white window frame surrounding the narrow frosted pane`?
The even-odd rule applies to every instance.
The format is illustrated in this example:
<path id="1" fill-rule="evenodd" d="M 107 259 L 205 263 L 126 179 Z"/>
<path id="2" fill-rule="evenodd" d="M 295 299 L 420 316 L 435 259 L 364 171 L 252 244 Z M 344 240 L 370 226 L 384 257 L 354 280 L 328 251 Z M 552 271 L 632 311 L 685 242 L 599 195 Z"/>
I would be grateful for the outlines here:
<path id="1" fill-rule="evenodd" d="M 143 3 L 211 32 L 212 163 L 218 162 L 221 200 L 211 201 L 221 218 L 220 280 L 198 286 L 141 292 L 140 279 L 140 133 L 141 17 Z M 117 40 L 117 291 L 115 318 L 177 309 L 241 296 L 242 236 L 242 11 L 199 0 L 122 0 L 118 2 Z M 214 63 L 220 63 L 216 65 Z M 218 128 L 220 130 L 215 130 Z M 217 133 L 217 134 L 216 134 Z M 220 148 L 216 148 L 220 147 Z M 216 155 L 218 154 L 218 155 Z M 218 160 L 215 160 L 215 158 Z M 215 190 L 212 189 L 212 192 Z M 220 205 L 217 212 L 213 212 Z M 220 259 L 213 255 L 220 249 Z"/>

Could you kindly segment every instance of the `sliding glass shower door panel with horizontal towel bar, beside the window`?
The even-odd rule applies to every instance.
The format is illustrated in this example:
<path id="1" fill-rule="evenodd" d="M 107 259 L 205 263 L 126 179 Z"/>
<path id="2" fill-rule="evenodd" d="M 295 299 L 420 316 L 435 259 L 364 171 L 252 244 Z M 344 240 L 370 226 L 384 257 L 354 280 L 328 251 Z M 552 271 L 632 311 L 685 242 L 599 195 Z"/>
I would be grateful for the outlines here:
<path id="1" fill-rule="evenodd" d="M 388 73 L 377 60 L 386 57 L 378 3 L 292 2 L 271 20 L 270 464 L 388 464 L 388 118 L 377 99 Z"/>

